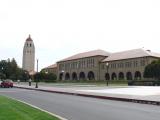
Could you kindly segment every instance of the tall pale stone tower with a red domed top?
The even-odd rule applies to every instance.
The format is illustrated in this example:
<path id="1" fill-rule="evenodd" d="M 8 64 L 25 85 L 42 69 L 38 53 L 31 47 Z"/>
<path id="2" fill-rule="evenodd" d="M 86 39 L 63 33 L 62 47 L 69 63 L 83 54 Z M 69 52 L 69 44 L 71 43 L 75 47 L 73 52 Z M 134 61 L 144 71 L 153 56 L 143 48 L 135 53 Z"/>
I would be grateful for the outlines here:
<path id="1" fill-rule="evenodd" d="M 31 36 L 26 39 L 23 47 L 22 69 L 33 72 L 35 66 L 35 46 Z"/>

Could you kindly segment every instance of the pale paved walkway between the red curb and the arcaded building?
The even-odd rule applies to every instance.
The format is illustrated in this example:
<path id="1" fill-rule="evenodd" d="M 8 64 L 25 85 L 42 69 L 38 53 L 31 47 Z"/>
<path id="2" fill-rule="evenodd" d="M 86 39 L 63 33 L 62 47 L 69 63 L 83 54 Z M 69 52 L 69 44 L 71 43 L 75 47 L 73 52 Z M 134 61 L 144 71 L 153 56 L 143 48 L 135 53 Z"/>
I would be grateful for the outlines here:
<path id="1" fill-rule="evenodd" d="M 136 102 L 143 104 L 160 105 L 160 87 L 156 86 L 94 86 L 94 85 L 50 85 L 14 84 L 14 87 L 38 90 L 44 92 L 69 94 L 100 99 Z"/>

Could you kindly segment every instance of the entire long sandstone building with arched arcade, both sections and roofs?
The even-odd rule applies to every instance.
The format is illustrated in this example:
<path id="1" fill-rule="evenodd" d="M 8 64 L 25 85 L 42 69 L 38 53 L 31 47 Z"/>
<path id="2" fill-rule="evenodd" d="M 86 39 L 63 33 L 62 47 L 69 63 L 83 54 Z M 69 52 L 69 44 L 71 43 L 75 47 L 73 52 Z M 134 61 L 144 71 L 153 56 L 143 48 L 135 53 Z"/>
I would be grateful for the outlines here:
<path id="1" fill-rule="evenodd" d="M 94 50 L 57 62 L 58 80 L 140 80 L 144 69 L 160 54 L 144 49 L 117 53 Z"/>

